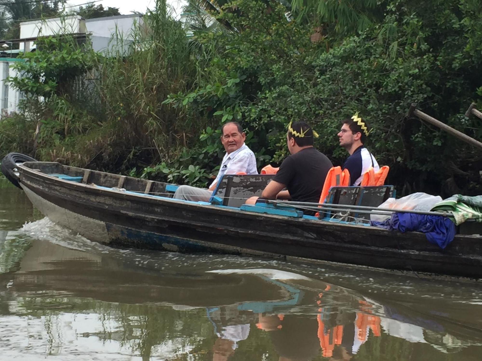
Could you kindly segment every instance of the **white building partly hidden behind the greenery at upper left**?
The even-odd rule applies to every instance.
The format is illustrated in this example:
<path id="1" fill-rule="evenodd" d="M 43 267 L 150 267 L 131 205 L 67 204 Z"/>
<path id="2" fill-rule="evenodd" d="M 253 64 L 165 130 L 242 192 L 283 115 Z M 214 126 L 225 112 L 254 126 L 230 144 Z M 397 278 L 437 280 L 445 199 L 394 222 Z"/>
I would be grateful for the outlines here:
<path id="1" fill-rule="evenodd" d="M 61 35 L 82 34 L 89 35 L 92 47 L 96 52 L 108 53 L 109 51 L 126 53 L 129 44 L 132 42 L 134 25 L 143 25 L 142 15 L 118 15 L 95 19 L 82 19 L 79 15 L 67 16 L 65 18 L 51 18 L 45 20 L 32 20 L 20 23 L 20 39 L 13 42 L 20 43 L 20 51 L 29 52 L 35 49 L 35 38 Z M 122 39 L 117 41 L 116 38 Z M 2 41 L 0 40 L 0 44 Z M 12 46 L 12 41 L 4 41 L 6 45 Z M 8 56 L 8 51 L 6 51 Z M 5 81 L 9 76 L 15 76 L 12 65 L 16 59 L 12 57 L 0 58 L 0 116 L 18 111 L 18 103 L 21 94 L 13 89 Z"/>

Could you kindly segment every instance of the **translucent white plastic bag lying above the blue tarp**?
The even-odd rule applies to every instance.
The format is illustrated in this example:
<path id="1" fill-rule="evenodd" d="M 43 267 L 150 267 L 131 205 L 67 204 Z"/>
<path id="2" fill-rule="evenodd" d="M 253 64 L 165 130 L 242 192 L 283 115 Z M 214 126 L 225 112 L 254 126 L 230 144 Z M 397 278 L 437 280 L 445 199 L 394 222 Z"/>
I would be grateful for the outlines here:
<path id="1" fill-rule="evenodd" d="M 418 192 L 406 195 L 400 199 L 388 198 L 385 202 L 378 206 L 378 208 L 429 211 L 438 202 L 442 202 L 442 197 L 440 195 L 430 195 L 427 193 Z M 375 220 L 378 222 L 382 222 L 388 218 L 390 218 L 390 216 L 380 214 L 370 215 L 371 220 Z"/>

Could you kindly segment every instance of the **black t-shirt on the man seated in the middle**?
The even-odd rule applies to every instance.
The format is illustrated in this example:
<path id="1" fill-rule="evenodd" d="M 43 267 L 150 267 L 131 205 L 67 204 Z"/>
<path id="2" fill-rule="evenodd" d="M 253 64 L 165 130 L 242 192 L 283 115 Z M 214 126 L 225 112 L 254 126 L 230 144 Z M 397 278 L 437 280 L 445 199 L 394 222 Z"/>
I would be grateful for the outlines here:
<path id="1" fill-rule="evenodd" d="M 273 181 L 284 184 L 296 202 L 319 202 L 326 174 L 333 167 L 326 155 L 305 148 L 283 160 Z"/>

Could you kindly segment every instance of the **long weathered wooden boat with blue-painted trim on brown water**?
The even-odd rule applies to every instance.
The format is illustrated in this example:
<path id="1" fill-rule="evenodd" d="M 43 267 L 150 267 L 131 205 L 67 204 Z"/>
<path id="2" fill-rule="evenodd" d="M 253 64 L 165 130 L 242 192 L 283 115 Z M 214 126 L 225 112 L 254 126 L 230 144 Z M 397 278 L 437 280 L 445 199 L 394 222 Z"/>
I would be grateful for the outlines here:
<path id="1" fill-rule="evenodd" d="M 456 234 L 442 250 L 423 233 L 318 219 L 295 208 L 241 206 L 247 196 L 259 194 L 270 176 L 225 176 L 218 187 L 222 192 L 216 190 L 208 203 L 170 198 L 172 184 L 59 163 L 26 162 L 17 170 L 22 189 L 45 216 L 109 245 L 482 277 L 478 234 Z M 389 195 L 388 188 L 384 192 Z"/>

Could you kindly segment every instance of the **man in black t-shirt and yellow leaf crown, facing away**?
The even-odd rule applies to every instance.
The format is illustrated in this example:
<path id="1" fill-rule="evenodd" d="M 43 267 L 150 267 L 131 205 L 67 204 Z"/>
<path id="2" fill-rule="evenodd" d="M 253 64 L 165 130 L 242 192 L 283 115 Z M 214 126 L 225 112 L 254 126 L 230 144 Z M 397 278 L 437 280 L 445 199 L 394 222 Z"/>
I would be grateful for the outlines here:
<path id="1" fill-rule="evenodd" d="M 320 201 L 326 174 L 333 167 L 326 155 L 313 148 L 318 134 L 305 122 L 288 125 L 288 156 L 261 194 L 265 199 L 287 199 L 297 202 Z M 281 191 L 286 188 L 287 191 Z"/>

